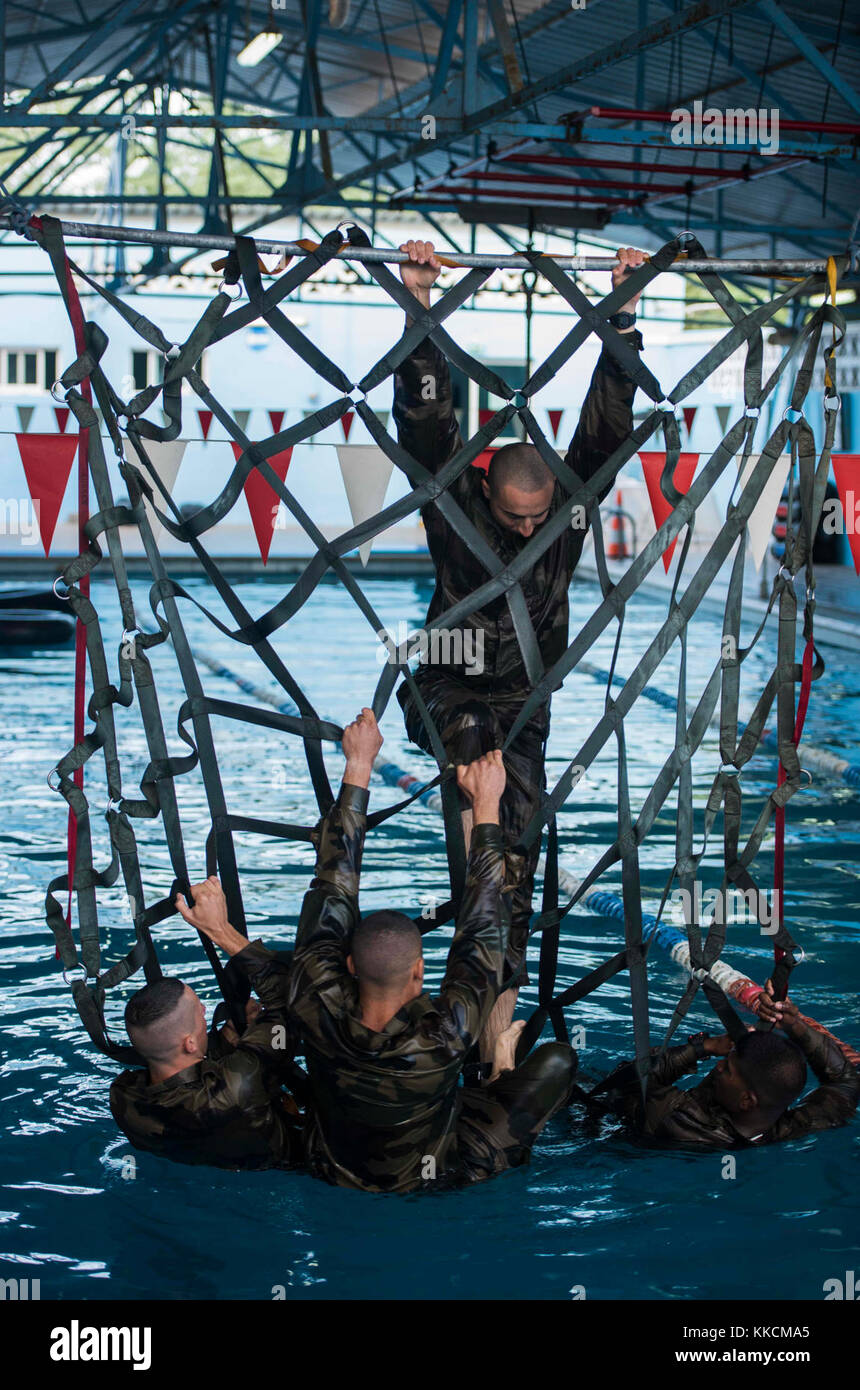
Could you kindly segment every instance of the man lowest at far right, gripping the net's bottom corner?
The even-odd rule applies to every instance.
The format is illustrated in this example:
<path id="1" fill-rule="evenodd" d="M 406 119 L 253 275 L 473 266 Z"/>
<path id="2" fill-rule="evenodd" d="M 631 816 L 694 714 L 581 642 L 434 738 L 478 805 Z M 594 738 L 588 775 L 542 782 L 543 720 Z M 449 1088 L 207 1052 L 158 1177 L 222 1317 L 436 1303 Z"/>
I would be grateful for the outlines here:
<path id="1" fill-rule="evenodd" d="M 803 1022 L 795 1004 L 774 999 L 770 980 L 766 991 L 759 1015 L 772 1031 L 750 1029 L 735 1044 L 699 1034 L 670 1048 L 650 1074 L 645 1106 L 632 1063 L 622 1063 L 600 1091 L 642 1134 L 692 1148 L 772 1144 L 845 1125 L 857 1108 L 860 1072 L 832 1038 Z M 679 1090 L 674 1083 L 706 1056 L 720 1061 L 699 1086 Z M 791 1108 L 806 1086 L 807 1063 L 820 1084 Z"/>

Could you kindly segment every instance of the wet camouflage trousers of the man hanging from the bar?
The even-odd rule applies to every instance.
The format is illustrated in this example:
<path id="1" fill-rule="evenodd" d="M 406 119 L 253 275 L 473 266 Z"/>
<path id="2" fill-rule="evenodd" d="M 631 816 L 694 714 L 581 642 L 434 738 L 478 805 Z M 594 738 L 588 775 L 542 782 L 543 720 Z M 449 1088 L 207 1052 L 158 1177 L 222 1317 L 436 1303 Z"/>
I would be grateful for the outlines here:
<path id="1" fill-rule="evenodd" d="M 453 763 L 471 763 L 493 748 L 502 748 L 510 728 L 522 709 L 522 691 L 511 694 L 475 691 L 468 680 L 457 680 L 447 671 L 421 667 L 415 676 L 431 719 L 439 730 L 445 751 Z M 397 699 L 406 717 L 410 742 L 425 753 L 432 753 L 431 741 L 408 685 L 397 689 Z M 532 915 L 535 869 L 540 856 L 540 837 L 527 855 L 517 853 L 522 831 L 540 808 L 546 788 L 543 767 L 549 734 L 549 702 L 532 716 L 504 753 L 507 784 L 499 810 L 504 840 L 506 883 L 513 887 L 511 926 L 506 956 L 506 979 L 525 956 L 528 924 Z M 463 808 L 468 801 L 463 798 Z M 528 981 L 522 972 L 520 983 Z"/>

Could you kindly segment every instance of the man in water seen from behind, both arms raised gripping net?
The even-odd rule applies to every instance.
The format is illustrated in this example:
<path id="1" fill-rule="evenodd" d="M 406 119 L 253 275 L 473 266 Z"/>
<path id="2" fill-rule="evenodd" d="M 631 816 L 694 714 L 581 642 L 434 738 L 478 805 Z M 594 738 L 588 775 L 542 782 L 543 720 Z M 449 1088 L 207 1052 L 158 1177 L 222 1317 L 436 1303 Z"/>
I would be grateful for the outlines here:
<path id="1" fill-rule="evenodd" d="M 499 828 L 504 766 L 490 752 L 457 769 L 474 828 L 445 979 L 429 995 L 414 922 L 402 912 L 358 913 L 367 788 L 381 746 L 364 709 L 343 731 L 343 784 L 315 833 L 317 873 L 301 908 L 289 998 L 311 1083 L 310 1170 L 342 1187 L 404 1193 L 479 1182 L 528 1162 L 568 1099 L 577 1056 L 547 1042 L 514 1069 L 514 1026 L 499 1038 L 492 1081 L 458 1088 L 502 984 L 510 897 Z"/>

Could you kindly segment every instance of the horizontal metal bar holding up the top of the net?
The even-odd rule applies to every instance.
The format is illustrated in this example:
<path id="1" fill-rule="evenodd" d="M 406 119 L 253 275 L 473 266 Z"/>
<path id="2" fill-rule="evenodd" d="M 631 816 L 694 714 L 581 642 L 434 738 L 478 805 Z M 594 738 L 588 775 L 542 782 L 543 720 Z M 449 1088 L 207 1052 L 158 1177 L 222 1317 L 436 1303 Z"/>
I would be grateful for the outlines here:
<path id="1" fill-rule="evenodd" d="M 349 225 L 347 222 L 339 225 Z M 189 246 L 196 247 L 201 252 L 229 252 L 236 245 L 235 236 L 214 236 L 203 232 L 157 232 L 151 231 L 149 227 L 100 227 L 93 222 L 65 222 L 61 221 L 60 227 L 65 236 L 92 236 L 101 242 L 128 242 L 131 245 L 139 246 Z M 0 231 L 13 231 L 13 224 L 8 217 L 0 217 Z M 256 246 L 258 252 L 264 256 L 286 254 L 286 256 L 304 256 L 304 247 L 299 246 L 297 242 L 285 240 L 264 240 L 263 238 L 256 238 Z M 29 243 L 35 245 L 35 243 Z M 443 254 L 439 250 L 439 254 Z M 399 252 L 393 247 L 377 247 L 377 246 L 343 246 L 338 253 L 339 260 L 354 260 L 363 261 L 364 264 L 386 264 L 395 265 L 402 264 L 408 260 L 407 252 Z M 457 261 L 457 265 L 471 267 L 483 265 L 488 268 L 497 270 L 531 270 L 532 263 L 525 259 L 525 256 L 492 256 L 492 254 L 472 254 L 468 252 L 456 252 L 452 257 Z M 618 264 L 614 256 L 553 256 L 552 260 L 561 270 L 613 270 Z M 825 260 L 727 260 L 711 259 L 706 260 L 679 260 L 671 267 L 672 272 L 682 275 L 697 274 L 704 270 L 714 270 L 721 274 L 761 274 L 761 275 L 816 275 L 822 274 L 827 268 Z"/>

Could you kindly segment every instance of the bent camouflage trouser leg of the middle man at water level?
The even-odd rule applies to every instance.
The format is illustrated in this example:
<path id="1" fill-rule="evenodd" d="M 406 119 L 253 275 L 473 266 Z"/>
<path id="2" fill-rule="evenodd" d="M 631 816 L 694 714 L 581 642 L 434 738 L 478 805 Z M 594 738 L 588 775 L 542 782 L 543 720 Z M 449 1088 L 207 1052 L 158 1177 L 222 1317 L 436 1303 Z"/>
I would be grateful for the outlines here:
<path id="1" fill-rule="evenodd" d="M 463 1180 L 481 1183 L 528 1163 L 540 1130 L 570 1101 L 575 1076 L 574 1049 L 545 1042 L 489 1086 L 464 1087 L 457 1119 Z"/>

